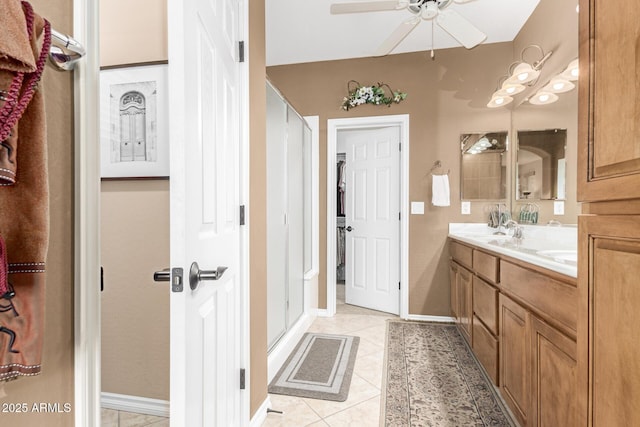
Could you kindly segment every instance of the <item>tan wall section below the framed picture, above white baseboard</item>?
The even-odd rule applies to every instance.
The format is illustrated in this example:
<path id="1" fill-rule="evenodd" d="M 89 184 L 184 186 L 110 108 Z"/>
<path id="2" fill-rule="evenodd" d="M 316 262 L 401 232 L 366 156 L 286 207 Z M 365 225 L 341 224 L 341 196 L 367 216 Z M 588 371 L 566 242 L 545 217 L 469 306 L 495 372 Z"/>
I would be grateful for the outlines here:
<path id="1" fill-rule="evenodd" d="M 103 181 L 102 391 L 169 400 L 169 181 Z"/>

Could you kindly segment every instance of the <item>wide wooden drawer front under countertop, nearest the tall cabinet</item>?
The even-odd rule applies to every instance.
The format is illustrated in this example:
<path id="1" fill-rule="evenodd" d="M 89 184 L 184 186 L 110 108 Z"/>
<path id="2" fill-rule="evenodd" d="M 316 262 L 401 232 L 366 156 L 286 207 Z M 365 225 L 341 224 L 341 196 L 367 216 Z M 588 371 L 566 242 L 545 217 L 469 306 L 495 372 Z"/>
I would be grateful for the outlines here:
<path id="1" fill-rule="evenodd" d="M 500 289 L 517 297 L 565 333 L 576 336 L 578 289 L 575 284 L 500 261 Z"/>

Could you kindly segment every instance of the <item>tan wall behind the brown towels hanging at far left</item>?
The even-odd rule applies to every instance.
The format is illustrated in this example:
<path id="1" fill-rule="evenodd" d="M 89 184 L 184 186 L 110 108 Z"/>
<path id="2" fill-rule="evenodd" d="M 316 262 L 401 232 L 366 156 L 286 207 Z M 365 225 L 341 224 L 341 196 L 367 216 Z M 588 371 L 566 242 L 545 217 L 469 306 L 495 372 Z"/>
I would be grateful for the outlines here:
<path id="1" fill-rule="evenodd" d="M 71 0 L 31 0 L 61 32 L 72 33 Z M 0 383 L 0 403 L 70 403 L 73 388 L 73 74 L 45 69 L 43 84 L 49 145 L 50 236 L 47 257 L 42 374 Z M 6 209 L 7 207 L 2 207 Z M 3 426 L 68 427 L 70 413 L 0 414 Z"/>

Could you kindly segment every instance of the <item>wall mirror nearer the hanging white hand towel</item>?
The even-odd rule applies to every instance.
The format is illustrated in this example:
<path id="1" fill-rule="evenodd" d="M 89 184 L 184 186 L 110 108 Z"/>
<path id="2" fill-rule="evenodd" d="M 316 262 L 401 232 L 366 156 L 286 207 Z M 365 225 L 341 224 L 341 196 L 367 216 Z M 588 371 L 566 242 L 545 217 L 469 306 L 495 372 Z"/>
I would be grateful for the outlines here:
<path id="1" fill-rule="evenodd" d="M 462 200 L 502 200 L 507 194 L 507 131 L 460 135 Z"/>

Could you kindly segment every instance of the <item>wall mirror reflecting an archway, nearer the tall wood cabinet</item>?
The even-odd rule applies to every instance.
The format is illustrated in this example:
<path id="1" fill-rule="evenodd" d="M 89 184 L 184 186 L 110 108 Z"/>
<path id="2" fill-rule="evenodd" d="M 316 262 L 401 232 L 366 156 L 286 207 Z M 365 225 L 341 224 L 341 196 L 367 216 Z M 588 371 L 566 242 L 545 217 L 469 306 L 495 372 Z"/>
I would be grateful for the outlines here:
<path id="1" fill-rule="evenodd" d="M 517 131 L 517 200 L 566 198 L 566 144 L 566 129 Z"/>

